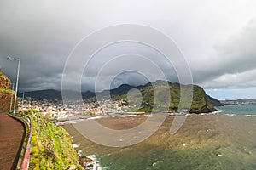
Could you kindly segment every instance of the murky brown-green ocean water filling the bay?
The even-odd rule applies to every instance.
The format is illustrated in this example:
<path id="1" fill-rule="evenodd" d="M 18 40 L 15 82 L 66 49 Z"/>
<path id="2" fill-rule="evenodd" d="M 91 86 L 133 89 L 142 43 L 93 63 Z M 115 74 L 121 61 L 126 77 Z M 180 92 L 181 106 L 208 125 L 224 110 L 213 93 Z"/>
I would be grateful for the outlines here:
<path id="1" fill-rule="evenodd" d="M 159 130 L 139 144 L 113 148 L 91 142 L 72 124 L 63 127 L 82 155 L 96 155 L 106 170 L 256 169 L 256 105 L 225 105 L 214 114 L 189 115 L 175 134 L 167 116 Z M 97 119 L 104 127 L 131 128 L 147 116 Z M 86 122 L 77 122 L 83 123 Z"/>

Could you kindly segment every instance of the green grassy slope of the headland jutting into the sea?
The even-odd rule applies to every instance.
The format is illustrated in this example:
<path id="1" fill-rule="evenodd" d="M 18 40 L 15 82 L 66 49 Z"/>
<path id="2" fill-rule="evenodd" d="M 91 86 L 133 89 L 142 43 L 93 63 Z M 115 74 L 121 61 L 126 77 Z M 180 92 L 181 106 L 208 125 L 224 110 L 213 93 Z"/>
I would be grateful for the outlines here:
<path id="1" fill-rule="evenodd" d="M 169 111 L 177 111 L 178 106 L 180 105 L 180 84 L 179 83 L 169 83 L 169 89 L 171 93 L 171 102 L 170 102 L 170 108 Z M 154 105 L 154 93 L 160 94 L 160 99 L 156 99 L 155 103 L 159 105 L 159 107 L 165 108 L 165 101 L 168 98 L 168 93 L 164 92 L 163 89 L 163 83 L 161 81 L 154 82 L 154 88 L 153 86 L 148 83 L 145 86 L 142 86 L 138 88 L 143 96 L 143 102 L 141 105 L 141 109 L 138 111 L 146 111 L 150 112 L 152 111 L 152 107 Z M 184 94 L 189 94 L 189 86 L 183 86 Z M 113 99 L 125 99 L 126 100 L 126 93 L 125 94 L 116 94 L 113 95 Z M 133 100 L 137 100 L 138 97 L 136 95 L 132 96 Z M 189 108 L 189 101 L 184 100 L 183 104 L 181 105 L 182 108 Z M 203 88 L 193 85 L 193 100 L 191 104 L 191 109 L 193 111 L 199 111 L 203 106 L 207 106 L 207 108 L 212 109 L 213 106 L 207 102 L 206 100 L 206 93 Z"/>

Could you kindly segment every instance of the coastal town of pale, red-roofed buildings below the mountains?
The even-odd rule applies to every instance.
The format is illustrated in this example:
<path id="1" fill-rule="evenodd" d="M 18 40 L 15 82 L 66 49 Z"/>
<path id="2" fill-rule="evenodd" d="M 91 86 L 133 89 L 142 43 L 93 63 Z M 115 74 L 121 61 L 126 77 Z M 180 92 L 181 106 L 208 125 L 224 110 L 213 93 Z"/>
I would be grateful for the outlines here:
<path id="1" fill-rule="evenodd" d="M 123 114 L 129 110 L 127 101 L 90 101 L 80 105 L 65 105 L 61 99 L 33 99 L 31 97 L 18 98 L 19 111 L 34 109 L 40 111 L 46 118 L 65 119 L 73 116 L 99 116 Z M 129 113 L 129 112 L 128 112 Z"/>

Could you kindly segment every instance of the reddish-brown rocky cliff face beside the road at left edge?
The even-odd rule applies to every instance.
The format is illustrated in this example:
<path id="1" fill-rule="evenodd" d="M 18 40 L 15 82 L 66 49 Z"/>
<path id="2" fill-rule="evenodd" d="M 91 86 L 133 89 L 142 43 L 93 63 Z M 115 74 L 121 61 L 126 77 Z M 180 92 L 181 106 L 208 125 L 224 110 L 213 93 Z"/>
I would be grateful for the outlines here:
<path id="1" fill-rule="evenodd" d="M 10 90 L 10 80 L 3 75 L 0 70 L 0 111 L 9 111 L 10 101 L 13 94 L 13 104 L 15 100 L 14 91 Z"/>

